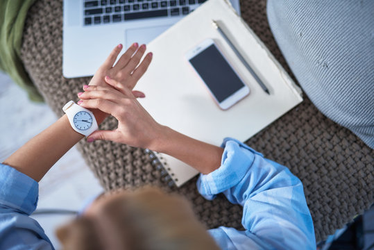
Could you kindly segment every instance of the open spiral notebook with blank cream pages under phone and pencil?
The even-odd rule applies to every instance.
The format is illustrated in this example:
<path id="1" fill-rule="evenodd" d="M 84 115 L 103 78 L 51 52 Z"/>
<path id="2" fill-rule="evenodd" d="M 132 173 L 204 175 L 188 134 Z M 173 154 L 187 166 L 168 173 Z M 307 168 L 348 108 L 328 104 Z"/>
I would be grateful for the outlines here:
<path id="1" fill-rule="evenodd" d="M 212 26 L 212 19 L 230 35 L 254 69 L 266 94 L 229 44 Z M 220 110 L 194 74 L 185 53 L 212 38 L 244 79 L 250 94 L 228 110 Z M 197 140 L 219 146 L 226 137 L 248 140 L 303 101 L 302 92 L 226 0 L 209 0 L 148 44 L 153 62 L 135 89 L 146 94 L 139 102 L 162 125 Z M 178 187 L 198 172 L 180 160 L 155 152 Z"/>

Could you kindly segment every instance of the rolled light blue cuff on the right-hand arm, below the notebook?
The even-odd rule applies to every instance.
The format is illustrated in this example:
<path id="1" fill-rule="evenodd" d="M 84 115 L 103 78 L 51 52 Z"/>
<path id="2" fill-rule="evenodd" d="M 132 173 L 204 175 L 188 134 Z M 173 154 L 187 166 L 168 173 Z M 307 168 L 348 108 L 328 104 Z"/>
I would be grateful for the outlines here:
<path id="1" fill-rule="evenodd" d="M 198 192 L 206 199 L 214 199 L 215 194 L 237 185 L 253 164 L 255 155 L 262 156 L 261 153 L 232 138 L 225 138 L 221 147 L 225 148 L 221 167 L 210 174 L 200 174 L 197 181 Z"/>

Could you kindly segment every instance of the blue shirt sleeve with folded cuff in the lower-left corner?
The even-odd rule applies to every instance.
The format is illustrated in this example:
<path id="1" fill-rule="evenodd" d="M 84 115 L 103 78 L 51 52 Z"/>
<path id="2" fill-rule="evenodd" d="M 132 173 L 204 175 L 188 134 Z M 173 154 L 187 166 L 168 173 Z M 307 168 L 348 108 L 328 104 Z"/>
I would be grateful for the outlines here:
<path id="1" fill-rule="evenodd" d="M 0 164 L 0 249 L 53 249 L 35 219 L 38 183 L 16 169 Z"/>

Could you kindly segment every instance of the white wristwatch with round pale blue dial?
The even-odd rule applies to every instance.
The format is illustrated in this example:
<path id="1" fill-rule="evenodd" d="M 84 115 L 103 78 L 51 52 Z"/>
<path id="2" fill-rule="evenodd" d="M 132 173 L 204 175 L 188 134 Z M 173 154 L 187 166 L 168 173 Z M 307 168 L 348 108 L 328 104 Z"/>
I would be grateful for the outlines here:
<path id="1" fill-rule="evenodd" d="M 99 128 L 94 114 L 74 101 L 66 103 L 62 110 L 67 114 L 71 127 L 82 135 L 91 135 Z"/>

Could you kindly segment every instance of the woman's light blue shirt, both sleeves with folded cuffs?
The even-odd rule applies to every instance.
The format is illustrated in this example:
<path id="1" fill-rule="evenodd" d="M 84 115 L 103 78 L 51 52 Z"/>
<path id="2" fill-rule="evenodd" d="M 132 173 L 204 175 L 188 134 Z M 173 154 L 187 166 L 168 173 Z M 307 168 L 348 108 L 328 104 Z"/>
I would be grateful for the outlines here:
<path id="1" fill-rule="evenodd" d="M 316 249 L 312 217 L 303 184 L 287 167 L 226 138 L 222 165 L 198 179 L 207 199 L 223 192 L 243 206 L 242 224 L 211 229 L 221 249 Z M 53 249 L 40 224 L 29 215 L 37 206 L 38 183 L 0 165 L 0 249 Z"/>

